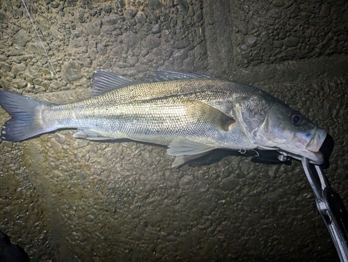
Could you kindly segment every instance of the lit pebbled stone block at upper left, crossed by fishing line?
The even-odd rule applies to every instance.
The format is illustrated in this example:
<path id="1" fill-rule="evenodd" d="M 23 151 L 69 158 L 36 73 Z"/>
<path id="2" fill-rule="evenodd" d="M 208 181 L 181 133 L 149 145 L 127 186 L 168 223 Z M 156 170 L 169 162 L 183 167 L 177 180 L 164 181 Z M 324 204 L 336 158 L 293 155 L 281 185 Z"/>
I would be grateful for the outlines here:
<path id="1" fill-rule="evenodd" d="M 89 86 L 96 68 L 141 78 L 156 68 L 206 67 L 202 2 L 125 2 L 28 3 L 54 68 L 68 86 L 64 89 Z M 2 39 L 8 49 L 0 58 L 1 68 L 12 74 L 1 77 L 1 86 L 26 87 L 29 93 L 59 90 L 52 69 L 43 67 L 47 58 L 22 3 L 12 6 L 8 1 L 2 9 Z M 9 56 L 15 65 L 6 63 Z M 25 66 L 29 60 L 31 68 Z"/>

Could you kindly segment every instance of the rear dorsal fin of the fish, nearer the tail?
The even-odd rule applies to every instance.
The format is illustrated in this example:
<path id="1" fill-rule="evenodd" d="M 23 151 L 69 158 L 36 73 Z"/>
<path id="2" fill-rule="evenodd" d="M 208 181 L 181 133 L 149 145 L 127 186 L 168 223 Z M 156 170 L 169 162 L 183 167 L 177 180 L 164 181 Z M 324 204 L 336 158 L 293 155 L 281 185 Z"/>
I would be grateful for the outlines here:
<path id="1" fill-rule="evenodd" d="M 93 96 L 102 95 L 109 91 L 113 91 L 129 84 L 136 84 L 139 81 L 122 77 L 108 70 L 95 70 L 92 77 L 92 90 L 90 93 Z"/>

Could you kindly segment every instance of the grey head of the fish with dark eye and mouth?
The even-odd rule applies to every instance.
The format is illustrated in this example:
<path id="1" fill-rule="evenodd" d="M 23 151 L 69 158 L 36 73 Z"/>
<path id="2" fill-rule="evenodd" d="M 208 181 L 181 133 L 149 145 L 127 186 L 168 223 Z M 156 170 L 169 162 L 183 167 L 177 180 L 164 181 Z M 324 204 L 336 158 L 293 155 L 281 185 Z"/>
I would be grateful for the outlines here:
<path id="1" fill-rule="evenodd" d="M 258 148 L 285 152 L 299 160 L 306 157 L 313 164 L 324 162 L 319 149 L 326 138 L 326 131 L 299 111 L 274 97 L 257 96 L 242 104 L 244 108 L 239 108 L 239 112 L 244 110 L 242 125 Z M 253 113 L 248 114 L 251 111 Z M 251 119 L 246 120 L 246 114 Z"/>

